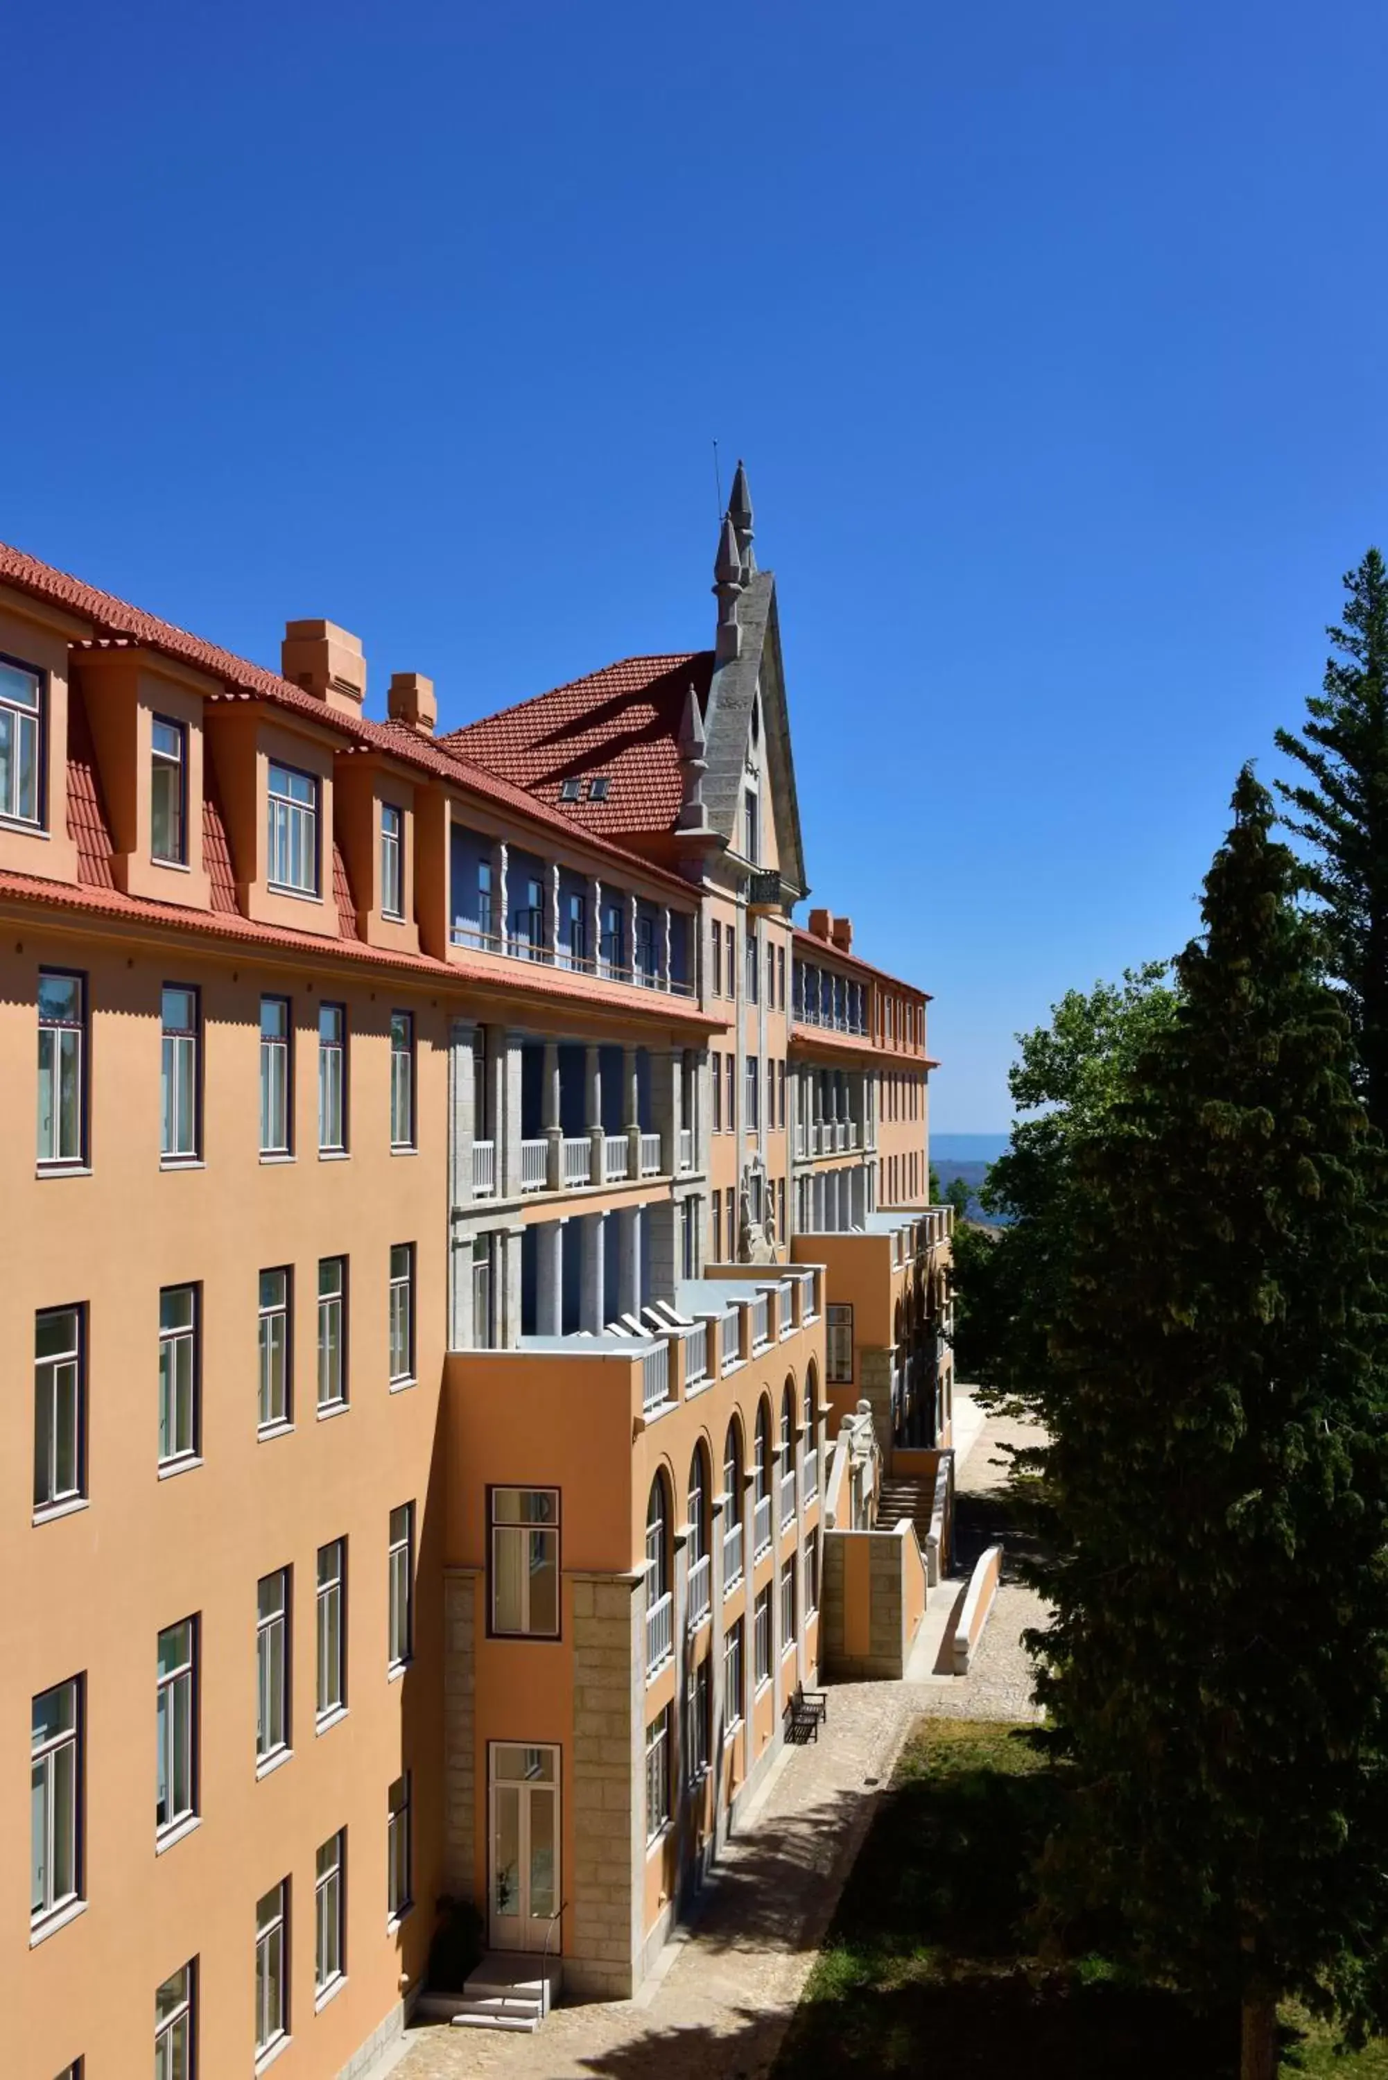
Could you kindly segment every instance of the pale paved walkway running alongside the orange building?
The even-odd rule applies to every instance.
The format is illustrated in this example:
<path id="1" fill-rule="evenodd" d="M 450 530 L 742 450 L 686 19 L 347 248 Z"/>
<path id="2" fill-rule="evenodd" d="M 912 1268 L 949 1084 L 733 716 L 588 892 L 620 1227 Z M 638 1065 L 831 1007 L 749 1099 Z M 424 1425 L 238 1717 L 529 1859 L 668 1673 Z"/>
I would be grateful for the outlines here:
<path id="1" fill-rule="evenodd" d="M 1005 1479 L 995 1446 L 1016 1441 L 1020 1431 L 993 1421 L 976 1431 L 957 1481 L 982 1514 Z M 558 2007 L 535 2036 L 410 2030 L 393 2080 L 762 2080 L 905 1735 L 934 1712 L 1030 1718 L 1018 1635 L 1040 1614 L 1030 1591 L 1005 1581 L 968 1676 L 834 1683 L 828 1726 L 816 1743 L 780 1751 L 760 1814 L 635 2001 Z"/>

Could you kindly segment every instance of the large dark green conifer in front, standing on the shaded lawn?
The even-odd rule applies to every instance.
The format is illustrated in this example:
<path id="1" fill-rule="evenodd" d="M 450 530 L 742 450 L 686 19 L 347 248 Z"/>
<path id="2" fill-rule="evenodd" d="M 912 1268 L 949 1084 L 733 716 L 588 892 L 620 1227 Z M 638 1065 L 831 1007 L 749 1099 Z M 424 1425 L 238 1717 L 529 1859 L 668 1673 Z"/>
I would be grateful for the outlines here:
<path id="1" fill-rule="evenodd" d="M 1074 1764 L 1057 1903 L 1140 1961 L 1351 2032 L 1388 2003 L 1384 1150 L 1249 772 L 1180 1005 L 1076 1150 L 1038 1695 Z"/>

